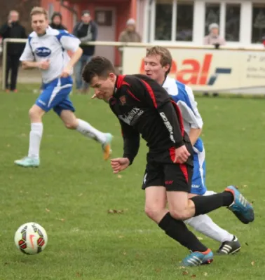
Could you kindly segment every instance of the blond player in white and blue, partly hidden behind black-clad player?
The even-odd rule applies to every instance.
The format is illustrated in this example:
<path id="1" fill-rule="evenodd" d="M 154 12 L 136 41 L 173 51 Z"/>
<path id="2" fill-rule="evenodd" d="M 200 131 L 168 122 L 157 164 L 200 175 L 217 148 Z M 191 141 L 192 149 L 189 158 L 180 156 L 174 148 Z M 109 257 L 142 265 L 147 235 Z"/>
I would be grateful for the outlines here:
<path id="1" fill-rule="evenodd" d="M 144 71 L 150 78 L 163 85 L 168 94 L 177 103 L 182 111 L 184 129 L 189 134 L 193 145 L 193 177 L 191 194 L 212 195 L 214 192 L 207 191 L 205 186 L 205 150 L 200 134 L 203 128 L 203 120 L 198 112 L 197 102 L 194 99 L 191 87 L 169 78 L 168 73 L 172 65 L 172 56 L 167 48 L 155 46 L 147 49 L 144 58 Z M 238 239 L 226 230 L 220 228 L 208 215 L 200 215 L 185 221 L 198 232 L 203 233 L 216 241 L 221 242 L 218 249 L 219 254 L 231 254 L 240 250 Z"/>

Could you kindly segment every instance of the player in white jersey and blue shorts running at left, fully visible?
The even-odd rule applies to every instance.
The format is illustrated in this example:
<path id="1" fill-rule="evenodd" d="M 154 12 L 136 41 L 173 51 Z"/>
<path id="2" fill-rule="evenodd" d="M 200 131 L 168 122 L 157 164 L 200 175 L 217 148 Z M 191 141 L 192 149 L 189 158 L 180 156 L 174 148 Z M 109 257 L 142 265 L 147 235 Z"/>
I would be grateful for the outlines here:
<path id="1" fill-rule="evenodd" d="M 30 16 L 34 31 L 29 35 L 20 61 L 24 69 L 41 70 L 43 91 L 29 109 L 31 121 L 29 153 L 27 157 L 15 160 L 15 165 L 39 167 L 39 150 L 43 134 L 42 117 L 50 109 L 60 116 L 67 128 L 102 144 L 104 159 L 107 160 L 111 153 L 112 135 L 100 132 L 86 121 L 76 118 L 74 106 L 69 99 L 73 87 L 72 67 L 82 55 L 79 39 L 65 30 L 49 27 L 48 14 L 41 7 L 33 8 Z M 68 51 L 72 52 L 71 58 Z"/>

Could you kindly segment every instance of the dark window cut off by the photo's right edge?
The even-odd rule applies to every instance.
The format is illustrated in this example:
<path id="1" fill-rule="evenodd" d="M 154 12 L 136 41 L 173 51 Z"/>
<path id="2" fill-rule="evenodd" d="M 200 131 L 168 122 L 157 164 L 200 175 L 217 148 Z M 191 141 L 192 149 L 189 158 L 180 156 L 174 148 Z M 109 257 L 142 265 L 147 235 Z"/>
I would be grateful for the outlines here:
<path id="1" fill-rule="evenodd" d="M 265 5 L 253 3 L 252 6 L 252 43 L 261 43 L 265 35 Z"/>

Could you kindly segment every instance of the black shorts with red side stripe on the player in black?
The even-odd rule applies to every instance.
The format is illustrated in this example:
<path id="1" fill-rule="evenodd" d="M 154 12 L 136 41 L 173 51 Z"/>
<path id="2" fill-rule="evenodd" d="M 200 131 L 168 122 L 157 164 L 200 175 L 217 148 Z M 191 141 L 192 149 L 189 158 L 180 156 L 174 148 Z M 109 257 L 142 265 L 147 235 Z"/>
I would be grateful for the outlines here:
<path id="1" fill-rule="evenodd" d="M 192 149 L 192 148 L 191 148 Z M 165 186 L 167 191 L 190 193 L 193 174 L 193 153 L 189 160 L 181 165 L 174 163 L 175 148 L 163 153 L 148 153 L 147 167 L 144 172 L 142 189 L 150 186 Z"/>

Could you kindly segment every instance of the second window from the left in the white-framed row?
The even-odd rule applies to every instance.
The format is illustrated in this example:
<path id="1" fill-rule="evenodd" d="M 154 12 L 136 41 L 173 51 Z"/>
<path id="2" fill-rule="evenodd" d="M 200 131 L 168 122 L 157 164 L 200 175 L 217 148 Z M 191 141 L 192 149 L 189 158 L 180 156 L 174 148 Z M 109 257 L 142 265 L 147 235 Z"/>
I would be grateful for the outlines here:
<path id="1" fill-rule="evenodd" d="M 177 41 L 192 41 L 193 1 L 177 1 Z"/>

